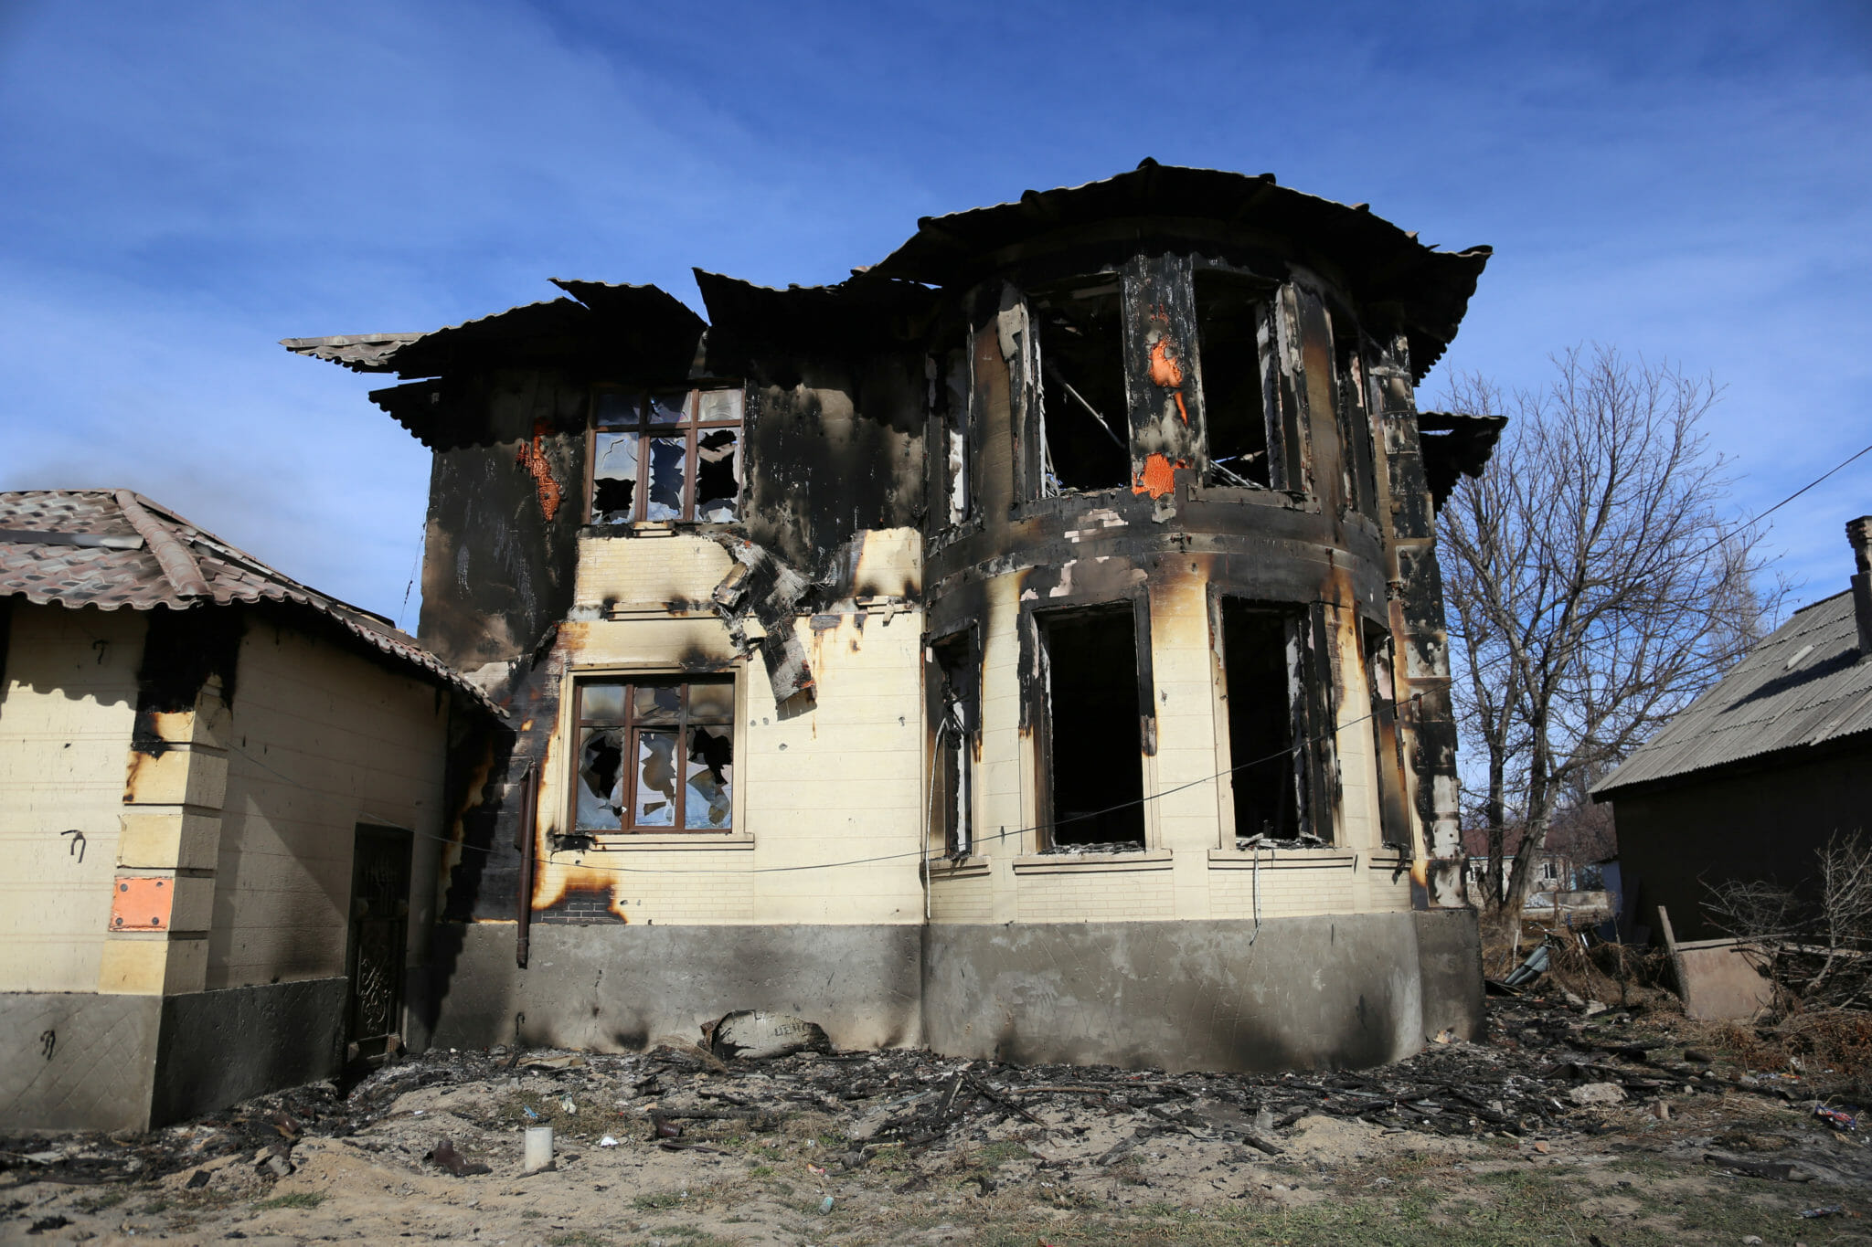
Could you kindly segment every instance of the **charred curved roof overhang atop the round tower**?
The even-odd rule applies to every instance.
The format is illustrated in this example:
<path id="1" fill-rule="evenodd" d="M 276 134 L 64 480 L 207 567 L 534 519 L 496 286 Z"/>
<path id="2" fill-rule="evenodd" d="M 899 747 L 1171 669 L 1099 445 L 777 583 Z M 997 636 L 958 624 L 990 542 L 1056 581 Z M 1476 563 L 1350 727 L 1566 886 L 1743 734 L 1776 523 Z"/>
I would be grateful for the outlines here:
<path id="1" fill-rule="evenodd" d="M 1104 181 L 1028 191 L 1013 204 L 923 217 L 915 236 L 869 273 L 970 286 L 1028 254 L 1075 245 L 1088 234 L 1222 247 L 1239 239 L 1329 269 L 1359 301 L 1370 329 L 1410 338 L 1419 381 L 1456 337 L 1492 254 L 1488 247 L 1460 252 L 1425 247 L 1365 204 L 1290 191 L 1273 174 L 1256 178 L 1146 159 Z"/>

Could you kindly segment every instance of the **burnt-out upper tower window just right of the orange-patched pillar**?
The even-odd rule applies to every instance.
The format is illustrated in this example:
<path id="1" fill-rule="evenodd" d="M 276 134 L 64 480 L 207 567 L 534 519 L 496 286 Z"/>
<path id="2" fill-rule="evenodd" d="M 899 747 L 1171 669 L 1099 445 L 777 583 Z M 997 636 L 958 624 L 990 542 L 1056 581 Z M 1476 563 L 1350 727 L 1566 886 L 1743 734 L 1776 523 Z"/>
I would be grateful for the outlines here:
<path id="1" fill-rule="evenodd" d="M 1202 409 L 1215 484 L 1273 488 L 1260 331 L 1265 294 L 1217 269 L 1194 275 Z"/>

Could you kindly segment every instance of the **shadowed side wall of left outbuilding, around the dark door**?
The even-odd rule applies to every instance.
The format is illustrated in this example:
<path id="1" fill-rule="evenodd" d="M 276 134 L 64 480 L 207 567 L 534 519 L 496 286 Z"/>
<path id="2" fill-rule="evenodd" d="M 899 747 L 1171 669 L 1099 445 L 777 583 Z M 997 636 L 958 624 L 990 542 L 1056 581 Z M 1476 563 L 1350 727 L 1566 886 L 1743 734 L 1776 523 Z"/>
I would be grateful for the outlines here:
<path id="1" fill-rule="evenodd" d="M 412 952 L 432 918 L 447 701 L 266 615 L 241 639 L 206 985 L 344 974 L 358 823 L 414 834 Z"/>

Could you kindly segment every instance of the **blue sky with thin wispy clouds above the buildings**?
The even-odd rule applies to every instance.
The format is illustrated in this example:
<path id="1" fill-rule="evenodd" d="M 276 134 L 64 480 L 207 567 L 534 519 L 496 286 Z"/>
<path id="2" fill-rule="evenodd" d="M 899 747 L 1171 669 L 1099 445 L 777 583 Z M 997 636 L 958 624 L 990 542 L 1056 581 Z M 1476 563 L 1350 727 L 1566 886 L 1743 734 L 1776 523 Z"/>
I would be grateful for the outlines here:
<path id="1" fill-rule="evenodd" d="M 1713 374 L 1752 514 L 1872 441 L 1872 6 L 0 0 L 0 488 L 133 486 L 414 626 L 427 454 L 277 338 L 822 282 L 1140 157 L 1496 258 L 1449 357 Z M 1844 587 L 1872 456 L 1775 516 Z"/>

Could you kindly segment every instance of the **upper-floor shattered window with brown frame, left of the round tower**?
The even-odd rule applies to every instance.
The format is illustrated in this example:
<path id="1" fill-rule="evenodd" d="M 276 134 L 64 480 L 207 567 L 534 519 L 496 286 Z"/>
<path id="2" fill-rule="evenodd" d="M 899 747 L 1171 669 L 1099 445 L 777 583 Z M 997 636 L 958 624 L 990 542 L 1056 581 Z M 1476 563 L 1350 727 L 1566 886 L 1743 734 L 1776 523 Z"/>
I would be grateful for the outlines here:
<path id="1" fill-rule="evenodd" d="M 599 391 L 592 523 L 732 523 L 741 505 L 741 391 Z"/>

